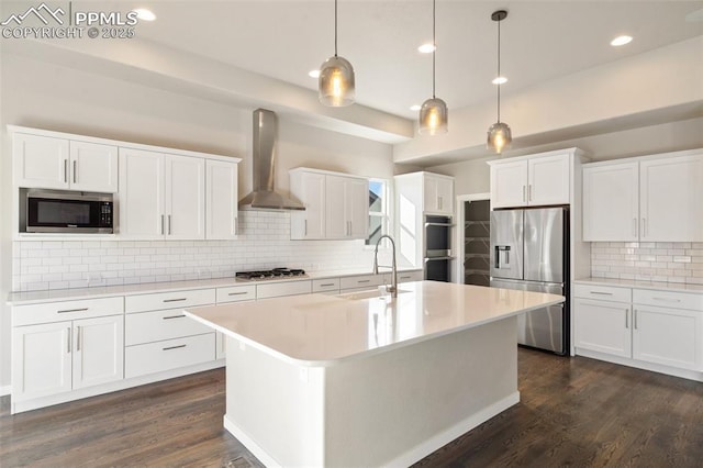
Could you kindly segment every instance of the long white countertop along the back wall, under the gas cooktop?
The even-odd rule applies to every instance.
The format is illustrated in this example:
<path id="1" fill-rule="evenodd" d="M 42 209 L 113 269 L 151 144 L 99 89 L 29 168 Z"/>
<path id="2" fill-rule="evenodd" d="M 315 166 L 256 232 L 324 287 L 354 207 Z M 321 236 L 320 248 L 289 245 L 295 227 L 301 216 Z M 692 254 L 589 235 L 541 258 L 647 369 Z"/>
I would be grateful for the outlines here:
<path id="1" fill-rule="evenodd" d="M 399 268 L 400 271 L 415 271 L 419 268 Z M 383 271 L 386 274 L 386 271 Z M 185 291 L 189 289 L 222 288 L 227 286 L 270 285 L 289 281 L 310 281 L 314 279 L 371 275 L 371 269 L 339 269 L 330 271 L 311 271 L 305 277 L 267 279 L 261 281 L 242 280 L 237 278 L 197 279 L 189 281 L 163 281 L 142 285 L 97 286 L 90 288 L 49 289 L 42 291 L 10 292 L 8 304 L 29 305 L 53 301 L 72 301 L 79 299 L 111 298 L 114 296 L 148 294 L 152 292 Z"/>

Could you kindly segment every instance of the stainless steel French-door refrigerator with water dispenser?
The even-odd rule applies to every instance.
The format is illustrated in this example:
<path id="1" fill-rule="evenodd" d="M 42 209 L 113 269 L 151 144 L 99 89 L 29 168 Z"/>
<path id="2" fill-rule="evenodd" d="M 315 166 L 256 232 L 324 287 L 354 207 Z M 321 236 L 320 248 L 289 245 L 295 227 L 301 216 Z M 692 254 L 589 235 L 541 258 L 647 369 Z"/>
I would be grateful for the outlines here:
<path id="1" fill-rule="evenodd" d="M 549 292 L 567 301 L 517 316 L 517 343 L 569 350 L 569 211 L 566 207 L 491 212 L 491 286 Z"/>

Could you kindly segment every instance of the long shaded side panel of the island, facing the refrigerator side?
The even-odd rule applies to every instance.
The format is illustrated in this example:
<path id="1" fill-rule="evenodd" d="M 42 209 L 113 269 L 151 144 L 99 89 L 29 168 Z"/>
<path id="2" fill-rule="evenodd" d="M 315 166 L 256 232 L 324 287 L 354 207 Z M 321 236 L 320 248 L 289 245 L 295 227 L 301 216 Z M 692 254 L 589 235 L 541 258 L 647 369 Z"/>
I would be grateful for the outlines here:
<path id="1" fill-rule="evenodd" d="M 327 368 L 325 466 L 409 466 L 520 401 L 514 316 Z"/>

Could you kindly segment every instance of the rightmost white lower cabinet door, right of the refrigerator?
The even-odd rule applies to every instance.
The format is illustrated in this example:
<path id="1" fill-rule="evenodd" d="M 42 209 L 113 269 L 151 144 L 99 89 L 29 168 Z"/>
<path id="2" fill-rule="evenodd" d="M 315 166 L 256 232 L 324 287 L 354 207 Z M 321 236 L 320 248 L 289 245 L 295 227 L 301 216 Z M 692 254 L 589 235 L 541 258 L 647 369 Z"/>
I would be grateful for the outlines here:
<path id="1" fill-rule="evenodd" d="M 701 370 L 703 313 L 634 305 L 633 357 L 648 363 Z"/>

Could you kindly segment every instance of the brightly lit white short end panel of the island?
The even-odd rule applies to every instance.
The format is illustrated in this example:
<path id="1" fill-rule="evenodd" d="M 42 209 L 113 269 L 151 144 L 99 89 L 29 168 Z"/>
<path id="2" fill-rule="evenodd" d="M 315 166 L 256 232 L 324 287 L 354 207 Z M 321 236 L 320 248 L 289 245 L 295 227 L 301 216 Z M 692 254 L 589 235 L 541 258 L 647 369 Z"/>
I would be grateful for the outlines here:
<path id="1" fill-rule="evenodd" d="M 232 337 L 226 349 L 225 428 L 268 467 L 323 466 L 325 369 L 280 360 Z"/>

